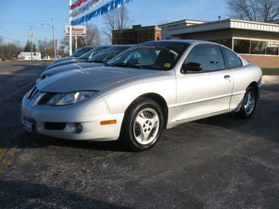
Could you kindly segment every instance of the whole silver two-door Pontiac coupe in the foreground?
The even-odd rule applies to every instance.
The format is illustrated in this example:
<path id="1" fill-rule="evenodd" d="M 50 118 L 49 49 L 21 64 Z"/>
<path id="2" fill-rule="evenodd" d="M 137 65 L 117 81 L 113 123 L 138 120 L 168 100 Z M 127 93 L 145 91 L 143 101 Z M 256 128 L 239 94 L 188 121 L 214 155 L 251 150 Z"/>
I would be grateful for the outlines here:
<path id="1" fill-rule="evenodd" d="M 22 127 L 62 139 L 119 139 L 142 151 L 164 128 L 232 111 L 250 118 L 261 79 L 260 68 L 214 42 L 144 42 L 105 66 L 38 83 L 22 100 Z"/>

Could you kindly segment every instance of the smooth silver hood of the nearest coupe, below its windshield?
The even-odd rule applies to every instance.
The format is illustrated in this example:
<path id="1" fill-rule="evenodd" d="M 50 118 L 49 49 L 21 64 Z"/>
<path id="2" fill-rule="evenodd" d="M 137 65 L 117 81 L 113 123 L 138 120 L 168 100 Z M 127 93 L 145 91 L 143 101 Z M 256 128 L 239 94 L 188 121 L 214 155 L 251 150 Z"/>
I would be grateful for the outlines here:
<path id="1" fill-rule="evenodd" d="M 84 70 L 70 70 L 49 77 L 37 84 L 41 92 L 68 93 L 71 91 L 101 91 L 128 79 L 157 76 L 164 71 L 103 66 Z"/>

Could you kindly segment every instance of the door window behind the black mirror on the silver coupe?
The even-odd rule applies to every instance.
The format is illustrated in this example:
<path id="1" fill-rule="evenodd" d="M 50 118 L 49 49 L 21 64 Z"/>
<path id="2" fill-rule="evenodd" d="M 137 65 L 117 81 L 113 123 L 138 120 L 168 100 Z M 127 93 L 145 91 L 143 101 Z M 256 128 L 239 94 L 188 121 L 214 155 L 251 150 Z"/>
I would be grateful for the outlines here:
<path id="1" fill-rule="evenodd" d="M 197 45 L 195 46 L 184 63 L 199 63 L 202 71 L 221 70 L 225 68 L 223 55 L 218 45 Z"/>

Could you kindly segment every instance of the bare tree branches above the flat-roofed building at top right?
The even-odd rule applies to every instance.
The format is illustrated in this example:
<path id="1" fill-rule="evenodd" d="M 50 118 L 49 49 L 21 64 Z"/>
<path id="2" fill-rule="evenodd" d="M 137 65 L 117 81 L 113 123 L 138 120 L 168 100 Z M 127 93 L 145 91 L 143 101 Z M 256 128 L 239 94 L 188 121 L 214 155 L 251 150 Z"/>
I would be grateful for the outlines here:
<path id="1" fill-rule="evenodd" d="M 226 0 L 230 16 L 240 20 L 268 22 L 279 17 L 279 0 Z"/>

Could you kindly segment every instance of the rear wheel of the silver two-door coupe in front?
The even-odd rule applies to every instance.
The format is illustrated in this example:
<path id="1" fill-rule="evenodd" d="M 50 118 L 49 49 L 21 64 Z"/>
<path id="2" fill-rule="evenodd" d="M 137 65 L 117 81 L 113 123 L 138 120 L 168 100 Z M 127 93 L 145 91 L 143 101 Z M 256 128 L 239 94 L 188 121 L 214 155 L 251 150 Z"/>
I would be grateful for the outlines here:
<path id="1" fill-rule="evenodd" d="M 246 93 L 241 102 L 241 109 L 236 112 L 236 116 L 242 119 L 250 118 L 255 111 L 256 103 L 257 94 L 255 88 L 250 86 L 246 89 Z"/>

